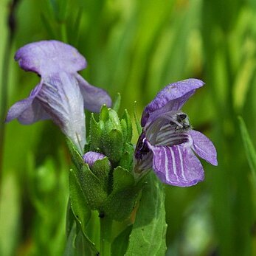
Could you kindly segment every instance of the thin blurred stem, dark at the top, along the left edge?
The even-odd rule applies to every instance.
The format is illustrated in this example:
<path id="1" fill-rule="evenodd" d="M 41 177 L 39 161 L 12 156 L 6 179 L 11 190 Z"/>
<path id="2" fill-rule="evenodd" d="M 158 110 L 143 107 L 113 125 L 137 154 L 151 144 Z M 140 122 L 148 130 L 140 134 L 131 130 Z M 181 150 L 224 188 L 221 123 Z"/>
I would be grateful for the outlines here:
<path id="1" fill-rule="evenodd" d="M 3 161 L 3 148 L 4 148 L 4 120 L 7 111 L 7 97 L 8 97 L 8 79 L 9 79 L 9 66 L 12 60 L 11 52 L 13 46 L 13 39 L 15 35 L 16 19 L 15 10 L 18 6 L 19 0 L 10 1 L 8 13 L 8 35 L 5 42 L 4 58 L 1 71 L 1 93 L 0 93 L 0 184 L 1 184 L 1 168 Z"/>

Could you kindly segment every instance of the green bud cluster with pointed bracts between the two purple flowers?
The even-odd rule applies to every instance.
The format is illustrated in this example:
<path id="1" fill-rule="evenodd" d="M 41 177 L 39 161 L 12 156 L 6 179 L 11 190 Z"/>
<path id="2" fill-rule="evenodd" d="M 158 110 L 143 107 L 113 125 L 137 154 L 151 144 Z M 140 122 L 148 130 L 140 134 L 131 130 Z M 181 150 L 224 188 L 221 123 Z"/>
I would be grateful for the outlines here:
<path id="1" fill-rule="evenodd" d="M 103 105 L 98 121 L 91 114 L 89 134 L 86 151 L 101 153 L 105 157 L 89 166 L 69 140 L 75 164 L 72 176 L 76 177 L 70 182 L 80 183 L 82 192 L 76 195 L 83 196 L 83 200 L 86 198 L 91 210 L 124 221 L 131 215 L 143 185 L 142 180 L 134 179 L 132 171 L 134 146 L 131 145 L 132 126 L 128 111 L 125 110 L 120 119 L 116 111 Z"/>

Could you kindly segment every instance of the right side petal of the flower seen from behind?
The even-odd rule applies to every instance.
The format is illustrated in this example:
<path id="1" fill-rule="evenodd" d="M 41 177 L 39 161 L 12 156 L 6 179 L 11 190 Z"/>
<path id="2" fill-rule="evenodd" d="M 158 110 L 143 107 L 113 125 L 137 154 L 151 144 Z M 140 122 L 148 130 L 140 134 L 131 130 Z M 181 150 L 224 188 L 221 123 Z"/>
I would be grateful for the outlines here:
<path id="1" fill-rule="evenodd" d="M 103 104 L 108 107 L 111 106 L 111 97 L 109 97 L 106 91 L 95 86 L 91 86 L 78 74 L 76 74 L 75 77 L 77 78 L 80 91 L 83 95 L 84 108 L 92 112 L 99 112 Z"/>

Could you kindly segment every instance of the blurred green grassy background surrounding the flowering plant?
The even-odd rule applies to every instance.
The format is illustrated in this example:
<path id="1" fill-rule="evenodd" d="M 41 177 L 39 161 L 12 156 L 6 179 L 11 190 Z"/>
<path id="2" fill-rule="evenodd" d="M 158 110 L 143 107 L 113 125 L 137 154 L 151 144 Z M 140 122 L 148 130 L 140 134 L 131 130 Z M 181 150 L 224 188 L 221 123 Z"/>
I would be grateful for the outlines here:
<path id="1" fill-rule="evenodd" d="M 166 186 L 166 255 L 256 255 L 256 182 L 238 122 L 241 115 L 255 142 L 256 1 L 1 0 L 0 37 L 4 116 L 38 82 L 13 60 L 32 41 L 77 47 L 89 63 L 83 77 L 112 97 L 120 92 L 121 113 L 132 114 L 136 100 L 140 115 L 168 83 L 204 80 L 184 111 L 214 142 L 219 165 L 203 162 L 206 178 L 195 187 Z M 70 166 L 63 135 L 50 121 L 4 127 L 0 255 L 61 255 Z"/>

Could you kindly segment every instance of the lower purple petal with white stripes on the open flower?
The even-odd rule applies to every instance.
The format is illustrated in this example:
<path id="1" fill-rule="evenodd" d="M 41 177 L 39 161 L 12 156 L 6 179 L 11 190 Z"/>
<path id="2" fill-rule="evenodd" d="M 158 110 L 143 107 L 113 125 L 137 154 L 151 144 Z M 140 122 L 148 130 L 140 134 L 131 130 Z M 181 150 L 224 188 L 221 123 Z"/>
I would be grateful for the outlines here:
<path id="1" fill-rule="evenodd" d="M 173 186 L 190 187 L 204 180 L 201 162 L 182 145 L 153 147 L 153 170 L 159 179 Z"/>

